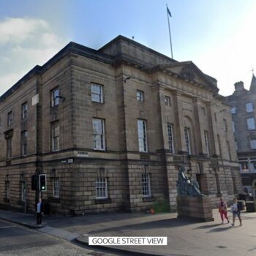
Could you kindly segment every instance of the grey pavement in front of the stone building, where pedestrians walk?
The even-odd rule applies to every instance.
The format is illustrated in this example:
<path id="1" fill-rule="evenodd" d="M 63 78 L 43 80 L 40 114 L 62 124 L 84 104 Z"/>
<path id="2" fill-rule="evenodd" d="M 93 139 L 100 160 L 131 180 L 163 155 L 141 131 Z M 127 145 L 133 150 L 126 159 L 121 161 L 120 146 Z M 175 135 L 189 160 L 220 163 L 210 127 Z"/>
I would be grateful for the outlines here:
<path id="1" fill-rule="evenodd" d="M 176 213 L 45 216 L 42 227 L 35 225 L 34 214 L 0 211 L 0 219 L 85 246 L 89 236 L 167 236 L 167 246 L 104 246 L 124 255 L 256 255 L 256 213 L 241 213 L 241 227 L 238 220 L 235 227 L 222 225 L 217 210 L 213 214 L 213 222 L 177 219 Z"/>

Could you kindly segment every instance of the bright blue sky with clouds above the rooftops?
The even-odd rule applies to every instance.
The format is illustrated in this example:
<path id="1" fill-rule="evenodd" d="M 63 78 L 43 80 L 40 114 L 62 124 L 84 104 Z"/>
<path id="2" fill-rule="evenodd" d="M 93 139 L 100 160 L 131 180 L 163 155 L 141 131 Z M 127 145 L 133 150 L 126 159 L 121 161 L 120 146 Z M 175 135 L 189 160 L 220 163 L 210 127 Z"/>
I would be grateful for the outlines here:
<path id="1" fill-rule="evenodd" d="M 219 94 L 256 75 L 255 0 L 0 0 L 0 95 L 70 41 L 99 49 L 119 34 L 193 61 Z"/>

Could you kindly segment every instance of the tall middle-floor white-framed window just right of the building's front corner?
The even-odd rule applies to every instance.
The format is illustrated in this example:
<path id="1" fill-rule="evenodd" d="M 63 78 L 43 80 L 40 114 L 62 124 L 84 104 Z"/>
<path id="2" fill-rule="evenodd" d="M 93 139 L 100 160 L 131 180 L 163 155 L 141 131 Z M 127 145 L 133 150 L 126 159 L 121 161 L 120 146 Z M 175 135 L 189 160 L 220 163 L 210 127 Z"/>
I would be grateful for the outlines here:
<path id="1" fill-rule="evenodd" d="M 103 119 L 93 118 L 94 149 L 105 150 L 105 122 Z"/>

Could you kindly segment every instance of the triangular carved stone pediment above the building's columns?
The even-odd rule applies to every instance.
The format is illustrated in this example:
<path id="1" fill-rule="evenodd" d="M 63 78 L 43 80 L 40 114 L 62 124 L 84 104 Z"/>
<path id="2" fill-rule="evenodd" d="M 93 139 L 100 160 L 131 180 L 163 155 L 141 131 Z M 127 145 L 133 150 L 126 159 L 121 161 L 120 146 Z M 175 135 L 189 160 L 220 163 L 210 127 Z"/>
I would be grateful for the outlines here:
<path id="1" fill-rule="evenodd" d="M 214 91 L 219 91 L 217 80 L 204 74 L 192 61 L 176 62 L 171 64 L 159 65 L 157 69 L 170 72 L 178 78 L 198 83 Z"/>

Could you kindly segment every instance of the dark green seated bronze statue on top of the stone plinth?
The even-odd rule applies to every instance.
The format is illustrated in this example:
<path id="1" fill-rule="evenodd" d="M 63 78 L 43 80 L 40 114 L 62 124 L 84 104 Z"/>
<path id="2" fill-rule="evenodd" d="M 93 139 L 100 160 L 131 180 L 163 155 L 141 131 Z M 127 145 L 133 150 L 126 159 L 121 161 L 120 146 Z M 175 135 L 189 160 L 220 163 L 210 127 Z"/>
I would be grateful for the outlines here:
<path id="1" fill-rule="evenodd" d="M 181 196 L 203 197 L 197 181 L 185 174 L 184 166 L 180 166 L 178 170 L 177 191 Z"/>

